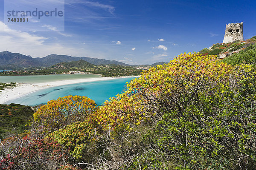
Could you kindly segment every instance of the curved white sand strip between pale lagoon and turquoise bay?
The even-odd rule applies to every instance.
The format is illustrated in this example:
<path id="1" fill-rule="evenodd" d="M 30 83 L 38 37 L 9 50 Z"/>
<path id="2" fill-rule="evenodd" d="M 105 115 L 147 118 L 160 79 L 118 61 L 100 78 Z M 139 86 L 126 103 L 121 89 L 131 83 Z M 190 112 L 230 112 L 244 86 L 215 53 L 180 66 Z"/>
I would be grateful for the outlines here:
<path id="1" fill-rule="evenodd" d="M 139 76 L 127 76 L 127 77 L 98 77 L 98 78 L 87 78 L 87 79 L 71 79 L 71 80 L 61 80 L 55 82 L 43 82 L 43 83 L 33 83 L 32 85 L 25 83 L 17 83 L 16 87 L 5 88 L 2 93 L 0 93 L 0 104 L 5 104 L 9 100 L 17 99 L 26 94 L 30 94 L 35 91 L 43 90 L 45 88 L 57 87 L 61 85 L 71 85 L 82 82 L 95 82 L 101 80 L 110 79 L 122 79 L 128 77 L 139 77 Z"/>

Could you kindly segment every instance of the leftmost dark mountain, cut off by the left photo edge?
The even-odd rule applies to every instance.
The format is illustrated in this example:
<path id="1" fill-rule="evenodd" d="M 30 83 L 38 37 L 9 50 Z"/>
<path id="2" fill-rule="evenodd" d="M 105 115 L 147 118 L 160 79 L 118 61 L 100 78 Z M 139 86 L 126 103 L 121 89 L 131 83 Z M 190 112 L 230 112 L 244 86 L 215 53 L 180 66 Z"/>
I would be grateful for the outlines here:
<path id="1" fill-rule="evenodd" d="M 0 52 L 0 65 L 16 65 L 17 67 L 38 67 L 40 62 L 30 56 L 9 51 Z"/>

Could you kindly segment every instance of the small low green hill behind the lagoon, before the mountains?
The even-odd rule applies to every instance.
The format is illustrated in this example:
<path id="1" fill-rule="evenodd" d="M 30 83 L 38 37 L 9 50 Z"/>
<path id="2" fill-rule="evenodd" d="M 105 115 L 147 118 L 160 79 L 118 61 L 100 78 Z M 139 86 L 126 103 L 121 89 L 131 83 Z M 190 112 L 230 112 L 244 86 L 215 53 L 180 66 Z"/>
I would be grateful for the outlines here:
<path id="1" fill-rule="evenodd" d="M 52 65 L 51 68 L 53 69 L 86 69 L 86 68 L 97 68 L 97 66 L 81 59 L 79 61 L 61 62 L 56 65 Z"/>

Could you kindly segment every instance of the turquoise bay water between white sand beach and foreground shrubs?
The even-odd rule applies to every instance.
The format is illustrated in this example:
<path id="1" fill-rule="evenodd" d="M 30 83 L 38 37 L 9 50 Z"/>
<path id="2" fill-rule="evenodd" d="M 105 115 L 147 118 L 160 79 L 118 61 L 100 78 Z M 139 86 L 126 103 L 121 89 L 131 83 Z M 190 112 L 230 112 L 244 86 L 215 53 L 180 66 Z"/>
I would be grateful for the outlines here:
<path id="1" fill-rule="evenodd" d="M 97 105 L 102 105 L 110 97 L 122 93 L 125 88 L 125 82 L 129 82 L 134 78 L 122 78 L 112 80 L 101 80 L 96 82 L 84 82 L 73 85 L 62 85 L 53 88 L 36 91 L 26 96 L 9 101 L 6 104 L 18 103 L 21 105 L 40 105 L 45 104 L 49 100 L 58 99 L 68 95 L 87 96 L 93 99 Z"/>

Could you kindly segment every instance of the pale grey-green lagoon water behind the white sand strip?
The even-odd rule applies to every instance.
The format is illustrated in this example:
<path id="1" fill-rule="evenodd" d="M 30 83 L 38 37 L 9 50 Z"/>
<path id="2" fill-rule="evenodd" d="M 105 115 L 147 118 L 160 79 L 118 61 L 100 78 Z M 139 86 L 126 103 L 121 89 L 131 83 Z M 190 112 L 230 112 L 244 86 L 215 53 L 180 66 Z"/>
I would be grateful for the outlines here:
<path id="1" fill-rule="evenodd" d="M 41 83 L 55 82 L 69 79 L 89 79 L 101 77 L 95 74 L 51 74 L 38 76 L 0 76 L 0 82 L 17 82 L 17 83 Z"/>

